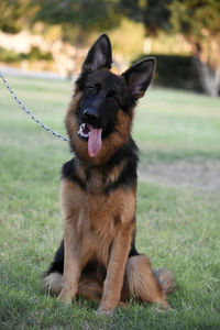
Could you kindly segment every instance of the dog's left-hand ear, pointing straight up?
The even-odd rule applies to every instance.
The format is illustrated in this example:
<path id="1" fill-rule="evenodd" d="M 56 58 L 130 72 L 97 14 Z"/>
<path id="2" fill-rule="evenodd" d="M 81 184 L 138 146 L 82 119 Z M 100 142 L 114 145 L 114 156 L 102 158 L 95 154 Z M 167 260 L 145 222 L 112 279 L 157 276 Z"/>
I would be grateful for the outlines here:
<path id="1" fill-rule="evenodd" d="M 82 64 L 82 73 L 92 73 L 99 68 L 111 68 L 111 43 L 107 34 L 101 34 L 89 50 Z"/>

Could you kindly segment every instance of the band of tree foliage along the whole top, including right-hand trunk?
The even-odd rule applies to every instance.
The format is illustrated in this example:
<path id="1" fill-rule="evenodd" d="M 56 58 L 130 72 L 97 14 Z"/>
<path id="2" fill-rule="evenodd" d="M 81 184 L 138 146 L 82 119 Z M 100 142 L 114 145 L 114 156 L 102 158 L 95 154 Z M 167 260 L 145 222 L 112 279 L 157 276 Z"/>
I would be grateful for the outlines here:
<path id="1" fill-rule="evenodd" d="M 151 37 L 161 31 L 180 33 L 190 44 L 204 90 L 219 95 L 219 0 L 1 0 L 0 12 L 4 32 L 16 33 L 38 21 L 62 25 L 63 40 L 77 47 L 91 33 L 119 26 L 124 16 L 143 23 Z"/>

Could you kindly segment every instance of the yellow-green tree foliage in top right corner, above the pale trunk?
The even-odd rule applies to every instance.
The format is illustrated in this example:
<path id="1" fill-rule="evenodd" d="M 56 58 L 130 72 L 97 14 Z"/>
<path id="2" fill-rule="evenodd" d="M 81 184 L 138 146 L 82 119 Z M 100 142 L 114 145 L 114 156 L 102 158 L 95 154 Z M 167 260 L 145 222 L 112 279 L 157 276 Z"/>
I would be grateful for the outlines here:
<path id="1" fill-rule="evenodd" d="M 220 2 L 218 0 L 173 1 L 170 23 L 174 33 L 183 33 L 198 56 L 210 67 L 220 66 Z M 220 50 L 220 45 L 219 45 Z"/>

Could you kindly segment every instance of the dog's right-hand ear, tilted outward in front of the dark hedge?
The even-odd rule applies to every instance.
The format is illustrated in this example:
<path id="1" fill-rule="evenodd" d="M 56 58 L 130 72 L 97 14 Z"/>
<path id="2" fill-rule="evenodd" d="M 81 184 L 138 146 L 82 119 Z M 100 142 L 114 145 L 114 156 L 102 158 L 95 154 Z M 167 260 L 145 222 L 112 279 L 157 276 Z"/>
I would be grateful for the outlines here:
<path id="1" fill-rule="evenodd" d="M 156 67 L 156 58 L 147 57 L 132 65 L 122 74 L 125 84 L 135 99 L 142 98 L 148 88 Z"/>

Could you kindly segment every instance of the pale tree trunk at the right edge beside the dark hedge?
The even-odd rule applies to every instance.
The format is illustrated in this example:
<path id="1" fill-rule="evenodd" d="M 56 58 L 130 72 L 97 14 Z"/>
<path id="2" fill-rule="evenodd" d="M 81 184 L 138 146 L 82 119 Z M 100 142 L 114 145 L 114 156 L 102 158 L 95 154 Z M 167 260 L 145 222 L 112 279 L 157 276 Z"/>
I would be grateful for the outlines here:
<path id="1" fill-rule="evenodd" d="M 218 97 L 220 91 L 220 68 L 213 69 L 201 63 L 199 58 L 195 58 L 194 62 L 205 92 L 211 97 Z"/>

